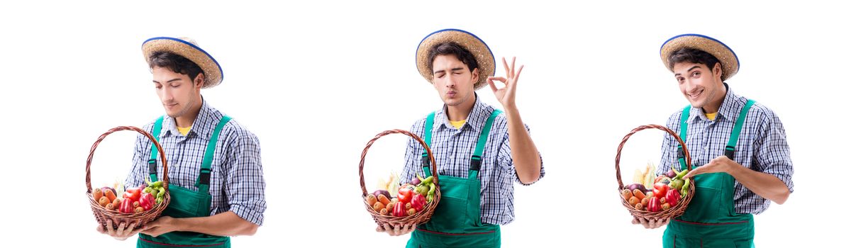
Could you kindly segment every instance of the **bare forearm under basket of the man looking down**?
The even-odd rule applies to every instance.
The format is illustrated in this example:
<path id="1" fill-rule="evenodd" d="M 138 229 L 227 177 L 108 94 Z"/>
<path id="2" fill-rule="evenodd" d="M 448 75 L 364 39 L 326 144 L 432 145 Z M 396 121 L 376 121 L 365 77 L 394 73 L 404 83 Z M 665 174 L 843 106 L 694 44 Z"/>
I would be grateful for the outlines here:
<path id="1" fill-rule="evenodd" d="M 176 218 L 180 231 L 205 233 L 215 236 L 253 235 L 259 225 L 244 220 L 232 211 L 214 216 Z"/>

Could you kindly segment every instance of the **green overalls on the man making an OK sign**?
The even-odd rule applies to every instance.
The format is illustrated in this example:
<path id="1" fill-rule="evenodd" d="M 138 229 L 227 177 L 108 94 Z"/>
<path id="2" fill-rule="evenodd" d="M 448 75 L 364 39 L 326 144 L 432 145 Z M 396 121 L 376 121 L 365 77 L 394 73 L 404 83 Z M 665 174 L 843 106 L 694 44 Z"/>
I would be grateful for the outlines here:
<path id="1" fill-rule="evenodd" d="M 500 246 L 499 225 L 482 224 L 481 222 L 481 181 L 479 169 L 484 144 L 490 134 L 490 126 L 496 115 L 502 111 L 496 109 L 484 123 L 479 142 L 476 143 L 473 157 L 470 159 L 470 170 L 467 178 L 439 175 L 440 189 L 443 198 L 437 204 L 431 220 L 416 227 L 407 241 L 408 248 L 417 247 L 470 247 L 487 248 Z M 431 147 L 431 130 L 434 126 L 434 115 L 431 113 L 425 120 L 425 144 Z M 430 175 L 431 164 L 428 153 L 422 153 L 422 169 L 425 175 Z"/>

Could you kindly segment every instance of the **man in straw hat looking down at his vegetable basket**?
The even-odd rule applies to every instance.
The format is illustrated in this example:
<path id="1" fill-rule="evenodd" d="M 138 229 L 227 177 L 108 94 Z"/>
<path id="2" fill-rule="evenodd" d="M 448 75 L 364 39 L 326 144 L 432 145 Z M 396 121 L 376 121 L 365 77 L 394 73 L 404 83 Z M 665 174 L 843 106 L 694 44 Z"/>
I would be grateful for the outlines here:
<path id="1" fill-rule="evenodd" d="M 220 84 L 222 68 L 187 38 L 150 38 L 142 50 L 167 114 L 143 129 L 167 153 L 171 200 L 163 216 L 144 227 L 113 229 L 108 221 L 108 229 L 99 225 L 98 231 L 116 239 L 140 233 L 137 247 L 229 247 L 228 236 L 253 235 L 266 208 L 259 139 L 200 94 Z M 163 177 L 157 153 L 152 141 L 137 136 L 127 187 Z"/>

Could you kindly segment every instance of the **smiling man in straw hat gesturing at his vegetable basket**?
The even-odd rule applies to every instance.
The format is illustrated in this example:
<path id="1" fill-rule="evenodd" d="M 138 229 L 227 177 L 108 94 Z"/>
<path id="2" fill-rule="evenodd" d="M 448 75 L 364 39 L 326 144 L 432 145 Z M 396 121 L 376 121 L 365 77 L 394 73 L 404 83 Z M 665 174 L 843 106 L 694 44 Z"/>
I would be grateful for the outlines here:
<path id="1" fill-rule="evenodd" d="M 663 247 L 752 247 L 754 222 L 794 192 L 794 166 L 782 121 L 769 108 L 734 92 L 724 80 L 740 62 L 719 40 L 698 34 L 669 38 L 660 48 L 690 106 L 669 117 L 690 151 L 695 195 L 674 220 L 639 220 L 647 228 L 667 225 Z M 663 139 L 659 173 L 687 168 L 677 140 Z M 680 167 L 680 168 L 678 168 Z"/>

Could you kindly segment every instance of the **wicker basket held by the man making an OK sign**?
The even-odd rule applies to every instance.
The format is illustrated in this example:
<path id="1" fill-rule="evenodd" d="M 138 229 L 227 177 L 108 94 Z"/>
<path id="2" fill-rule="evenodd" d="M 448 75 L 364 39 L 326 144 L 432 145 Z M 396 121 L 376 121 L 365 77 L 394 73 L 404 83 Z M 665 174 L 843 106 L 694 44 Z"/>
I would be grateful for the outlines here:
<path id="1" fill-rule="evenodd" d="M 428 159 L 431 161 L 431 174 L 434 176 L 434 184 L 437 186 L 437 189 L 434 190 L 434 200 L 431 203 L 425 204 L 425 208 L 413 216 L 403 216 L 403 217 L 395 217 L 395 216 L 383 216 L 380 213 L 377 213 L 372 206 L 366 203 L 366 196 L 368 196 L 368 192 L 366 192 L 366 178 L 363 176 L 363 166 L 366 162 L 366 153 L 369 151 L 369 147 L 372 147 L 375 140 L 380 139 L 383 136 L 386 136 L 391 133 L 401 133 L 410 138 L 416 139 L 419 141 L 419 144 L 425 148 L 425 151 L 428 151 Z M 416 134 L 395 129 L 389 131 L 383 131 L 382 133 L 377 133 L 374 139 L 369 140 L 368 144 L 366 144 L 366 149 L 363 150 L 363 155 L 360 156 L 360 187 L 363 189 L 363 204 L 366 205 L 366 210 L 369 211 L 369 214 L 372 214 L 372 218 L 374 218 L 378 227 L 383 227 L 383 224 L 389 224 L 390 227 L 395 225 L 405 226 L 405 225 L 419 225 L 427 222 L 431 219 L 431 216 L 434 215 L 434 209 L 437 208 L 437 203 L 440 202 L 440 184 L 437 180 L 437 163 L 434 161 L 434 154 L 431 153 L 431 149 L 428 145 L 425 144 L 425 141 L 419 139 L 419 136 Z M 393 192 L 389 192 L 390 194 Z"/>

